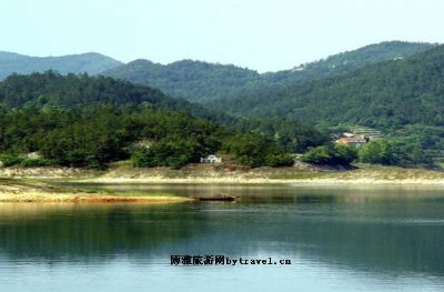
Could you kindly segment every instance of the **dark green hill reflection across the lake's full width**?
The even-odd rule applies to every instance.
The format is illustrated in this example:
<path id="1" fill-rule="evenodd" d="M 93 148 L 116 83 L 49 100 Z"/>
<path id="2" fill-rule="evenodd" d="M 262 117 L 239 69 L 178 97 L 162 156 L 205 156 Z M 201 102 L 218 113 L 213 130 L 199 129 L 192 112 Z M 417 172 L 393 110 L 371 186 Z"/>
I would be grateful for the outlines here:
<path id="1" fill-rule="evenodd" d="M 195 193 L 178 187 L 169 191 Z M 123 256 L 129 263 L 167 265 L 170 254 L 270 255 L 381 276 L 444 275 L 444 202 L 438 190 L 254 187 L 233 188 L 231 193 L 241 200 L 2 204 L 0 258 L 12 264 L 105 264 Z"/>

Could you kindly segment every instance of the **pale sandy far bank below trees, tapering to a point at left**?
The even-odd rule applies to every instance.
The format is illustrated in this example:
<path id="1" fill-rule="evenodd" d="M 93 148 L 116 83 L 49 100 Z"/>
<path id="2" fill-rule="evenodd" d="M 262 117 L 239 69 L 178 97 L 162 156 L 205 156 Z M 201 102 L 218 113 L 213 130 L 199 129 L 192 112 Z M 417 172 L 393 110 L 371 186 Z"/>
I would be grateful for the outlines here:
<path id="1" fill-rule="evenodd" d="M 198 165 L 182 170 L 111 168 L 85 178 L 97 183 L 299 183 L 299 184 L 443 184 L 444 172 L 425 169 L 359 165 L 352 170 L 260 168 L 226 170 Z"/>

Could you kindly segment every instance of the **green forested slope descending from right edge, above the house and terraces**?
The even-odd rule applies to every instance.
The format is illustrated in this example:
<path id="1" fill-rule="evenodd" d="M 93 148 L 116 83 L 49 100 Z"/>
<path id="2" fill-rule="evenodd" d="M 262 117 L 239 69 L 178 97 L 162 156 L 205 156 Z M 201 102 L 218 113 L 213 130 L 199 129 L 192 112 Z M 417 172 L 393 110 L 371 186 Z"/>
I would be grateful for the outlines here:
<path id="1" fill-rule="evenodd" d="M 444 46 L 302 85 L 213 103 L 249 117 L 396 129 L 444 125 Z"/>

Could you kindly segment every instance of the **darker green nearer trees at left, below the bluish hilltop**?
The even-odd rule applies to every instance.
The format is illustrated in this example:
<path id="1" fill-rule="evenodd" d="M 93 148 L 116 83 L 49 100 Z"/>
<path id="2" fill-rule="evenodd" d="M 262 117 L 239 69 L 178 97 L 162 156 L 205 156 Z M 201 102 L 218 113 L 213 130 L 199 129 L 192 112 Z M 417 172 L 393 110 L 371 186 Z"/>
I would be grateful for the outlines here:
<path id="1" fill-rule="evenodd" d="M 110 161 L 125 159 L 127 148 L 141 139 L 157 141 L 153 149 L 159 151 L 165 139 L 193 139 L 202 152 L 210 153 L 228 135 L 225 129 L 208 121 L 148 105 L 95 105 L 83 110 L 28 107 L 8 111 L 3 118 L 3 152 L 39 151 L 46 159 L 71 167 L 102 168 Z M 174 157 L 173 152 L 164 154 Z"/>

